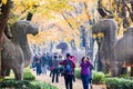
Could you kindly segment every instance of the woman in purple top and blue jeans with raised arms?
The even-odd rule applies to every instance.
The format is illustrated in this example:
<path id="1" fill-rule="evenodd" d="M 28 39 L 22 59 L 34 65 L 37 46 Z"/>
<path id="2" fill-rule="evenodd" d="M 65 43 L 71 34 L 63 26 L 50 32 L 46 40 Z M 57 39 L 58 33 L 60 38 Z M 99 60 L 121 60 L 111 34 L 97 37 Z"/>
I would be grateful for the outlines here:
<path id="1" fill-rule="evenodd" d="M 81 79 L 83 83 L 83 89 L 89 89 L 89 67 L 91 62 L 88 57 L 83 57 L 80 63 L 81 67 Z"/>

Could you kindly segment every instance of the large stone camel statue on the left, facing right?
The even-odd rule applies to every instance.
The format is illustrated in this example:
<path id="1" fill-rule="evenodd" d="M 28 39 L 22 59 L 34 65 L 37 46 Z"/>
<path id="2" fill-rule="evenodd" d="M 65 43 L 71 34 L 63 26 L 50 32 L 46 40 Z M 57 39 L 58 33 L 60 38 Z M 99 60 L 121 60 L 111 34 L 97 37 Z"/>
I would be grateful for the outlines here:
<path id="1" fill-rule="evenodd" d="M 1 60 L 2 76 L 10 69 L 13 70 L 17 80 L 23 79 L 23 69 L 31 63 L 32 55 L 29 48 L 27 34 L 37 34 L 39 29 L 30 21 L 17 21 L 11 27 L 12 39 L 3 33 Z"/>

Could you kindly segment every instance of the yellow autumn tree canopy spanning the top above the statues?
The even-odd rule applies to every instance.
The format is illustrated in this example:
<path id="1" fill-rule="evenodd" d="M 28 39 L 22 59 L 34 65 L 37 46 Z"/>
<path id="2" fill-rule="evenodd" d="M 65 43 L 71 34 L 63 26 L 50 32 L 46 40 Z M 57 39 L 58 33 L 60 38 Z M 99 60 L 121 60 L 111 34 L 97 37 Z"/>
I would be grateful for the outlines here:
<path id="1" fill-rule="evenodd" d="M 2 4 L 7 1 L 1 0 Z M 12 0 L 13 8 L 8 23 L 24 20 L 32 13 L 32 21 L 40 27 L 35 42 L 70 41 L 79 42 L 79 27 L 86 30 L 101 18 L 112 18 L 119 22 L 121 29 L 132 26 L 132 0 Z M 122 24 L 122 23 L 125 24 Z M 33 37 L 29 36 L 33 42 Z M 41 39 L 43 38 L 43 39 Z"/>

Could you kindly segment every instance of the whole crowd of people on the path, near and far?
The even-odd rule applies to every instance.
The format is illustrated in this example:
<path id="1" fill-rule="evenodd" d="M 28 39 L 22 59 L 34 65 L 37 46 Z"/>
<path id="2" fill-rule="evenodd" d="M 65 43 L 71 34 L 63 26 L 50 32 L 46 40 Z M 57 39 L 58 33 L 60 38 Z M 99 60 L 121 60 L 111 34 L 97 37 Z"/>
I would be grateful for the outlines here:
<path id="1" fill-rule="evenodd" d="M 47 75 L 50 71 L 50 77 L 52 82 L 59 82 L 59 76 L 64 77 L 65 88 L 73 89 L 72 82 L 75 82 L 74 68 L 75 68 L 76 57 L 66 53 L 65 57 L 59 53 L 43 53 L 35 55 L 33 57 L 33 62 L 31 68 L 37 71 L 37 76 Z M 80 62 L 81 68 L 81 80 L 83 89 L 92 89 L 92 69 L 93 65 L 91 59 L 84 56 Z"/>

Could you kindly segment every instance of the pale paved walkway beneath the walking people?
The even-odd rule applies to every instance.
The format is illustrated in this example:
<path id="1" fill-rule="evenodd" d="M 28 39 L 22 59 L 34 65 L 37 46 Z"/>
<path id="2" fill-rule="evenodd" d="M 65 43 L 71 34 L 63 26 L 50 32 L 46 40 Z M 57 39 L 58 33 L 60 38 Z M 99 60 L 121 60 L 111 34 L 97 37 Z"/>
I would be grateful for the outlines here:
<path id="1" fill-rule="evenodd" d="M 59 89 L 65 89 L 63 77 L 59 77 L 59 82 L 58 83 L 57 82 L 52 83 L 51 82 L 51 77 L 49 76 L 49 72 L 48 72 L 48 75 L 43 75 L 43 76 L 42 75 L 37 76 L 35 71 L 32 71 L 32 70 L 31 70 L 31 72 L 35 76 L 37 80 L 44 81 L 47 83 L 51 83 L 52 86 L 55 86 Z M 76 79 L 76 81 L 73 82 L 73 89 L 83 89 L 82 88 L 82 82 L 81 82 L 80 79 Z M 93 89 L 105 89 L 105 86 L 104 85 L 99 85 L 99 86 L 93 85 Z"/>

